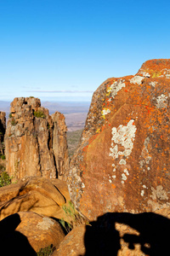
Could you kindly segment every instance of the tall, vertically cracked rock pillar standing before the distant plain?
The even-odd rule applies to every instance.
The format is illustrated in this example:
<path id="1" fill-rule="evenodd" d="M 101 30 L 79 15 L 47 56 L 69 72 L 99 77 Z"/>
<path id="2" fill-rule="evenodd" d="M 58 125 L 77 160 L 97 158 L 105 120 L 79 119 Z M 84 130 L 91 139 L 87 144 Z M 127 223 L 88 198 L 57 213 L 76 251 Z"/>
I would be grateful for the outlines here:
<path id="1" fill-rule="evenodd" d="M 14 179 L 55 178 L 61 177 L 61 173 L 64 177 L 68 168 L 64 116 L 54 113 L 52 119 L 48 109 L 42 108 L 40 100 L 34 97 L 15 98 L 10 112 L 5 135 L 8 174 Z"/>

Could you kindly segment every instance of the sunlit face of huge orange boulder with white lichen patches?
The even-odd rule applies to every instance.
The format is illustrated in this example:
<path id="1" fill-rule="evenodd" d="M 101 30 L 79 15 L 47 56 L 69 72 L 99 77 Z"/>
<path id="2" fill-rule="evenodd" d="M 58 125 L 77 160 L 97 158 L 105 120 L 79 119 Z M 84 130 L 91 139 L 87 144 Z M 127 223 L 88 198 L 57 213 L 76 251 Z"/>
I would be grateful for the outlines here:
<path id="1" fill-rule="evenodd" d="M 170 60 L 94 92 L 71 160 L 71 200 L 89 219 L 105 212 L 169 212 Z"/>

